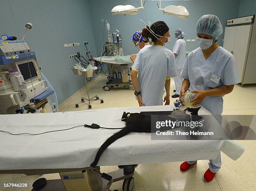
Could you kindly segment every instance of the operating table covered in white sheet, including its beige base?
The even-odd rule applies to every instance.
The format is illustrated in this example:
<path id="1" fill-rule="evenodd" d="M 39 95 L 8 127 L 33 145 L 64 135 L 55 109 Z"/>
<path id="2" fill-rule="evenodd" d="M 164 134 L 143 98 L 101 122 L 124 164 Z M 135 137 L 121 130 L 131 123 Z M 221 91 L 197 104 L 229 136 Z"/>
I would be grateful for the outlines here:
<path id="1" fill-rule="evenodd" d="M 120 128 L 123 112 L 170 111 L 173 106 L 106 108 L 79 112 L 0 115 L 0 130 L 12 133 L 41 133 L 96 123 Z M 204 107 L 199 115 L 210 115 Z M 215 118 L 213 125 L 218 125 Z M 127 164 L 164 163 L 217 158 L 220 151 L 233 160 L 243 153 L 242 145 L 231 140 L 151 140 L 150 133 L 130 133 L 111 144 L 98 167 L 90 167 L 98 148 L 118 130 L 76 127 L 42 135 L 10 135 L 0 132 L 0 173 L 38 175 L 59 173 L 40 191 L 111 191 L 115 181 L 124 179 L 123 190 L 134 184 L 134 166 Z M 124 165 L 124 169 L 101 173 L 100 166 Z M 33 189 L 34 191 L 35 189 Z"/>

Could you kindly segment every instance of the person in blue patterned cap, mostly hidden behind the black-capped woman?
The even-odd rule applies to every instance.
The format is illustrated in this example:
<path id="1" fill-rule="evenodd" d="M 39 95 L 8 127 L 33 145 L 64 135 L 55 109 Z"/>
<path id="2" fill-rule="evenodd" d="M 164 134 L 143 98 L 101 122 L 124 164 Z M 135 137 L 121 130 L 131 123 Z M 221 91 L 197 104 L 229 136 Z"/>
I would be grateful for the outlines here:
<path id="1" fill-rule="evenodd" d="M 150 46 L 148 38 L 143 38 L 141 36 L 142 31 L 137 31 L 133 34 L 133 43 L 134 46 L 138 49 L 141 50 L 145 46 Z M 136 55 L 132 54 L 130 57 L 131 61 L 134 63 L 136 59 Z"/>

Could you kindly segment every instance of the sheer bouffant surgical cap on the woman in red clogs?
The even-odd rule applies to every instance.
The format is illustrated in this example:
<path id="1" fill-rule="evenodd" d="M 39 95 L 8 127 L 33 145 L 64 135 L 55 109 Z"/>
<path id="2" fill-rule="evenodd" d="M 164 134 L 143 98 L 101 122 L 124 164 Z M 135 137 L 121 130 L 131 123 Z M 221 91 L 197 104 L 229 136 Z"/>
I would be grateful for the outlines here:
<path id="1" fill-rule="evenodd" d="M 204 33 L 213 37 L 220 36 L 223 32 L 220 19 L 215 15 L 203 15 L 196 25 L 196 33 Z"/>

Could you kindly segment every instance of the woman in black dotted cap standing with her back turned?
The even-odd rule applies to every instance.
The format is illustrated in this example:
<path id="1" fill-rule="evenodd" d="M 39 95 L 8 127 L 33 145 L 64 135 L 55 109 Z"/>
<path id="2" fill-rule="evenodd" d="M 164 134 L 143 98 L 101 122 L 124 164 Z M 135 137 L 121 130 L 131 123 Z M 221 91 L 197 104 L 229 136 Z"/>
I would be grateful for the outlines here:
<path id="1" fill-rule="evenodd" d="M 138 52 L 133 64 L 131 79 L 139 106 L 170 104 L 170 77 L 177 75 L 174 53 L 164 47 L 170 39 L 169 27 L 163 21 L 146 26 L 143 38 L 151 38 L 154 46 L 146 46 Z M 138 76 L 138 77 L 137 77 Z"/>

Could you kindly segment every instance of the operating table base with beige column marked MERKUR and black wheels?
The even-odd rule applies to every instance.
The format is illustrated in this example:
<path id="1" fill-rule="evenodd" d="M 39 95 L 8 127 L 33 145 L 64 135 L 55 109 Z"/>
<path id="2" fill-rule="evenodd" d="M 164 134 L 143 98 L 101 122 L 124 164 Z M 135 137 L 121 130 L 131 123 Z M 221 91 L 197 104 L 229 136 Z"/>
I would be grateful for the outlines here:
<path id="1" fill-rule="evenodd" d="M 108 174 L 101 173 L 100 167 L 77 169 L 33 169 L 33 170 L 7 170 L 0 173 L 24 173 L 38 175 L 59 173 L 61 179 L 47 180 L 41 189 L 33 188 L 31 191 L 112 191 L 113 182 L 123 181 L 123 191 L 131 191 L 134 186 L 134 165 L 127 165 Z M 37 181 L 34 184 L 38 183 Z M 117 190 L 115 190 L 117 191 Z"/>

